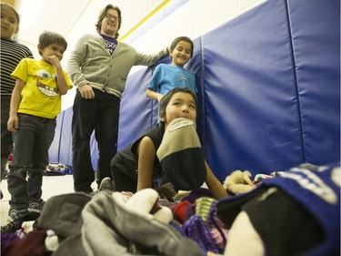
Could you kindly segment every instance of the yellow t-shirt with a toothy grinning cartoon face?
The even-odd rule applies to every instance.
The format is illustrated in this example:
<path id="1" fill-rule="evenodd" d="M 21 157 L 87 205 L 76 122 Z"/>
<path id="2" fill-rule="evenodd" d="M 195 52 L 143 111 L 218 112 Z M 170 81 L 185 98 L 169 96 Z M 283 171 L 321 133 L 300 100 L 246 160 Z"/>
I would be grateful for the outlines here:
<path id="1" fill-rule="evenodd" d="M 67 87 L 72 88 L 72 83 L 63 71 Z M 55 67 L 32 58 L 20 61 L 12 77 L 25 81 L 21 92 L 21 101 L 18 113 L 25 113 L 41 118 L 55 118 L 61 111 L 62 96 L 57 87 Z"/>

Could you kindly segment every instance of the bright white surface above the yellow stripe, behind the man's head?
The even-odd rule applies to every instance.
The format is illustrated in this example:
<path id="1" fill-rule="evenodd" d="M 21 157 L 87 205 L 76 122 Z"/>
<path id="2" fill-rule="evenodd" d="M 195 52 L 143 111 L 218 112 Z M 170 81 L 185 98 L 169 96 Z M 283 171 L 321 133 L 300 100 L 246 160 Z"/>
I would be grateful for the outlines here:
<path id="1" fill-rule="evenodd" d="M 21 15 L 17 39 L 35 53 L 38 37 L 45 30 L 65 36 L 69 46 L 85 33 L 95 33 L 95 22 L 107 4 L 122 12 L 120 36 L 124 36 L 163 0 L 15 0 Z"/>

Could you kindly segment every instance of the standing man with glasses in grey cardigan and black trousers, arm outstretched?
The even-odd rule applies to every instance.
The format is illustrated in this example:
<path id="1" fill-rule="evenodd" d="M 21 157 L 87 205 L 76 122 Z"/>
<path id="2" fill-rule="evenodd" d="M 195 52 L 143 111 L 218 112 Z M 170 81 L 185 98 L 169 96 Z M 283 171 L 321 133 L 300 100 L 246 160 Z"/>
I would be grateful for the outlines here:
<path id="1" fill-rule="evenodd" d="M 95 130 L 99 158 L 100 184 L 111 177 L 110 161 L 117 151 L 119 107 L 125 81 L 133 66 L 151 66 L 167 54 L 138 53 L 132 46 L 118 42 L 121 11 L 106 5 L 95 24 L 97 35 L 82 36 L 75 45 L 67 72 L 77 87 L 72 118 L 72 150 L 75 191 L 91 193 L 95 179 L 90 153 L 90 138 Z"/>

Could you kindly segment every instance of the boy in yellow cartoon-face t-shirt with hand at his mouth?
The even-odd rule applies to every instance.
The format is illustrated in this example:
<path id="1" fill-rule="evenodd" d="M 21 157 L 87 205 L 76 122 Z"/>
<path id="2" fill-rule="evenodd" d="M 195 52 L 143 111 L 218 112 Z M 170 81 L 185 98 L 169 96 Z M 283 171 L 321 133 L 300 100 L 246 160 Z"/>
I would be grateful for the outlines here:
<path id="1" fill-rule="evenodd" d="M 38 44 L 42 58 L 22 59 L 11 74 L 15 88 L 7 128 L 13 132 L 15 148 L 7 176 L 9 220 L 27 220 L 30 211 L 40 212 L 44 206 L 42 181 L 55 137 L 55 118 L 62 95 L 72 88 L 60 64 L 66 47 L 63 36 L 45 31 Z"/>

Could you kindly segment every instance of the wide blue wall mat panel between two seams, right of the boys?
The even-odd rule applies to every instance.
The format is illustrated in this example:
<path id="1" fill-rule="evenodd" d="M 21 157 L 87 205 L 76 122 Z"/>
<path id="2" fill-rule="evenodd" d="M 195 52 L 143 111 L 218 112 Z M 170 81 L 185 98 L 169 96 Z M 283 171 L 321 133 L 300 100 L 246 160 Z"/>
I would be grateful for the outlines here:
<path id="1" fill-rule="evenodd" d="M 267 173 L 303 160 L 284 3 L 266 2 L 203 36 L 204 145 L 220 179 L 235 169 Z"/>

